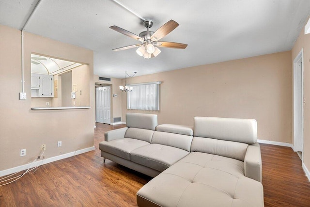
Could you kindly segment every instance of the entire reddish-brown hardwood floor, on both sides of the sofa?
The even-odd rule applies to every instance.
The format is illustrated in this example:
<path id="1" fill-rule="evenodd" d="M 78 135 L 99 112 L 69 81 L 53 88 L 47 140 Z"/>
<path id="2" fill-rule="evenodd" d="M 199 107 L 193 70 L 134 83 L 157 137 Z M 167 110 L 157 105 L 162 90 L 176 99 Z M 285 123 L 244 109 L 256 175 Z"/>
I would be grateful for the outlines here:
<path id="1" fill-rule="evenodd" d="M 98 143 L 104 132 L 124 127 L 96 124 L 92 152 L 40 167 L 0 187 L 0 207 L 137 207 L 136 192 L 151 177 L 110 160 Z M 265 207 L 310 207 L 310 182 L 289 147 L 261 144 Z"/>

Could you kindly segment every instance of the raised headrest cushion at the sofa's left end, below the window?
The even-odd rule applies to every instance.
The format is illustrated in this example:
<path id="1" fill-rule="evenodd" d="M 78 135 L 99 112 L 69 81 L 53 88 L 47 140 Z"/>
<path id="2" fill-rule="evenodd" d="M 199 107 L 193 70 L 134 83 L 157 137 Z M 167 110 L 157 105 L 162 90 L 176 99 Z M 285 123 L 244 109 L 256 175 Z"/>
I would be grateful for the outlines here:
<path id="1" fill-rule="evenodd" d="M 126 113 L 127 127 L 155 130 L 157 126 L 156 114 Z"/>

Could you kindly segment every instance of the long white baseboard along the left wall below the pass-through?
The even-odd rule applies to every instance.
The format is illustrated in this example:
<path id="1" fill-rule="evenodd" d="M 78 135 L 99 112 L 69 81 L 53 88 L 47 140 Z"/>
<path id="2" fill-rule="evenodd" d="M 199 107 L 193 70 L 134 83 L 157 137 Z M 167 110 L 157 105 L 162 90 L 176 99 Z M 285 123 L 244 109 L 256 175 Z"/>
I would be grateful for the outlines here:
<path id="1" fill-rule="evenodd" d="M 13 167 L 13 168 L 10 168 L 10 169 L 7 169 L 7 170 L 2 170 L 2 171 L 0 171 L 0 177 L 5 176 L 5 175 L 10 175 L 12 173 L 16 173 L 16 172 L 19 172 L 19 171 L 27 170 L 30 167 L 30 165 L 31 165 L 31 167 L 36 167 L 36 166 L 44 165 L 44 164 L 47 164 L 47 163 L 50 163 L 50 162 L 54 162 L 54 161 L 57 161 L 57 160 L 61 160 L 61 159 L 65 159 L 65 158 L 70 158 L 72 156 L 79 155 L 79 154 L 82 154 L 82 153 L 85 153 L 85 152 L 90 152 L 90 151 L 93 151 L 93 150 L 95 150 L 94 146 L 88 147 L 88 148 L 85 148 L 85 149 L 80 149 L 80 150 L 77 150 L 75 152 L 69 152 L 69 153 L 66 153 L 66 154 L 63 154 L 63 155 L 59 155 L 59 156 L 55 156 L 55 157 L 52 157 L 52 158 L 38 160 L 38 161 L 34 162 L 32 165 L 31 165 L 31 163 L 28 163 L 28 164 L 20 165 L 20 166 Z"/>

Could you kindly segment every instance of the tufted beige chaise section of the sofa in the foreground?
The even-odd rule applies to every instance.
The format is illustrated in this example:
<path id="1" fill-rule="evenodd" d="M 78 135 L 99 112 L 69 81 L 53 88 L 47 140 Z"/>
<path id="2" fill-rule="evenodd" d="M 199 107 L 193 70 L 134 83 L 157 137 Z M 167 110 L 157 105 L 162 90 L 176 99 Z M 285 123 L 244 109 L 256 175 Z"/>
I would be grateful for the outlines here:
<path id="1" fill-rule="evenodd" d="M 138 206 L 263 207 L 263 186 L 244 162 L 191 152 L 137 192 Z"/>

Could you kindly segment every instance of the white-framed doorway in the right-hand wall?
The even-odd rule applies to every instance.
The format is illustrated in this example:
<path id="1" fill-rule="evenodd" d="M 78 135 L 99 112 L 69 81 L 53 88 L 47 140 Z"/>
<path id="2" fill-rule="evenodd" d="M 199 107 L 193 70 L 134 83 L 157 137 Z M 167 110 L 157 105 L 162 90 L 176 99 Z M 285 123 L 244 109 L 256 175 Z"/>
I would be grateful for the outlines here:
<path id="1" fill-rule="evenodd" d="M 294 151 L 303 160 L 303 49 L 294 59 Z"/>

